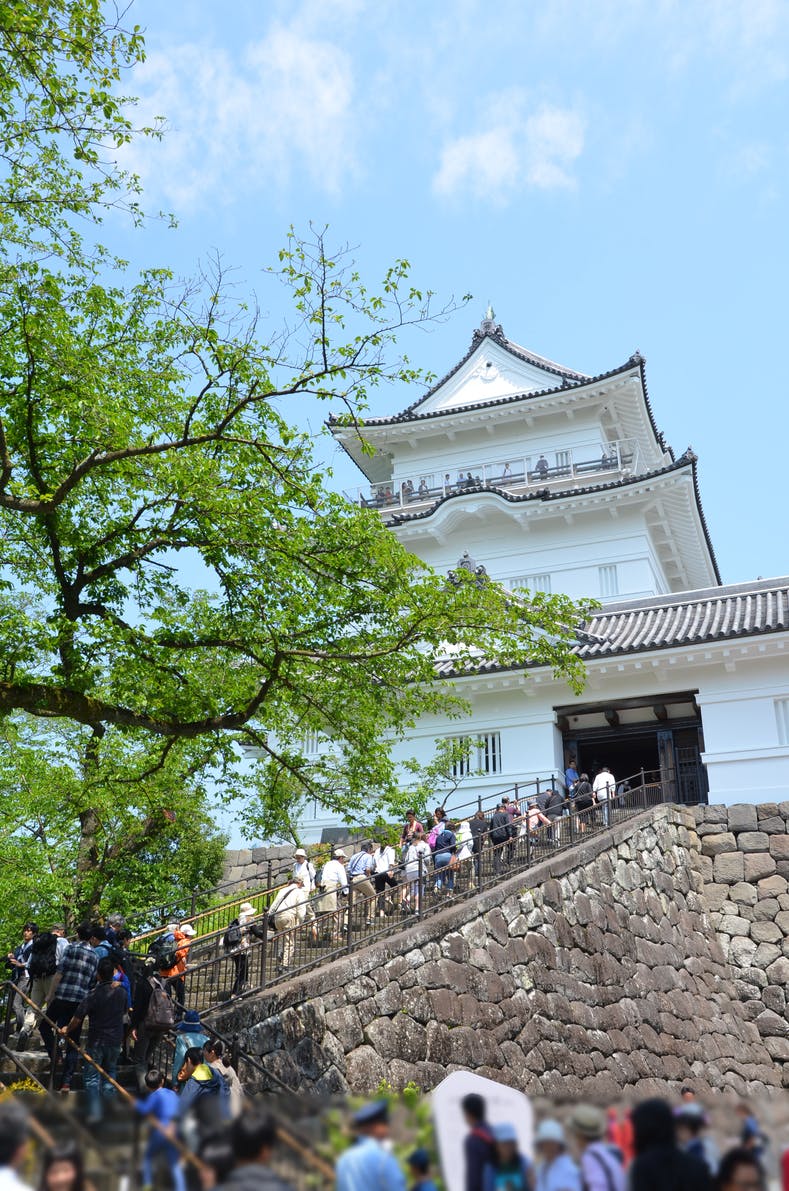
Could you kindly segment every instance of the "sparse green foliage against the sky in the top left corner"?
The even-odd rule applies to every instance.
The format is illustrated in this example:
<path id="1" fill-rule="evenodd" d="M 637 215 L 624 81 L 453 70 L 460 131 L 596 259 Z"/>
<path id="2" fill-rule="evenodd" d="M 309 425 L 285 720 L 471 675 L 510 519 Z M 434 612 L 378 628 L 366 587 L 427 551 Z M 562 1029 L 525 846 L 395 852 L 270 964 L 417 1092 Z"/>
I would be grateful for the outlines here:
<path id="1" fill-rule="evenodd" d="M 125 73 L 144 57 L 138 26 L 101 0 L 0 0 L 0 235 L 4 255 L 83 258 L 76 233 L 108 207 L 141 216 L 139 182 L 118 154 L 136 133 Z M 75 223 L 76 220 L 76 223 Z"/>

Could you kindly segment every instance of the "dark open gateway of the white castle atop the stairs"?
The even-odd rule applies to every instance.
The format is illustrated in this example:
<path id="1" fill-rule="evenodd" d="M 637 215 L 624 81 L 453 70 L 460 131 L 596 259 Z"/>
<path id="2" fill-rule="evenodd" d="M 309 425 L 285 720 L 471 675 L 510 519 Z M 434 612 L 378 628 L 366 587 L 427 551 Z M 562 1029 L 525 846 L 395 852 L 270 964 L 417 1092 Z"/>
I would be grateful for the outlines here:
<path id="1" fill-rule="evenodd" d="M 701 711 L 694 692 L 614 703 L 557 707 L 565 765 L 578 760 L 579 773 L 594 778 L 607 765 L 617 782 L 661 781 L 675 802 L 706 803 L 707 771 Z M 635 779 L 635 780 L 634 780 Z"/>

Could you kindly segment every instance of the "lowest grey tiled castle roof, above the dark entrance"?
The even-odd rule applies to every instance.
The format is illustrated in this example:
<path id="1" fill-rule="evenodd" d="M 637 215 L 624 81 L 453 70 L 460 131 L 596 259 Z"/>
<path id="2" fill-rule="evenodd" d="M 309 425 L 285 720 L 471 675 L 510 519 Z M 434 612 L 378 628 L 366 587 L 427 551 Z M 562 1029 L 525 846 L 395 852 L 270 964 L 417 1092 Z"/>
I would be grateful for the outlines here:
<path id="1" fill-rule="evenodd" d="M 592 661 L 771 632 L 789 632 L 789 576 L 607 604 L 578 630 L 576 651 Z M 440 678 L 508 668 L 486 660 L 465 669 L 451 659 L 436 663 Z"/>

